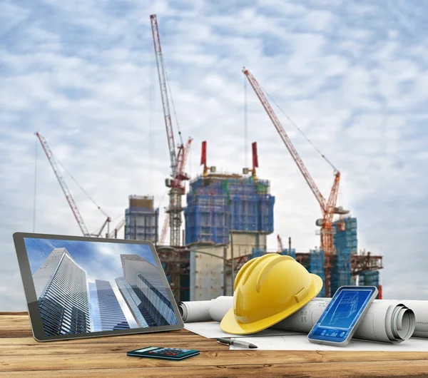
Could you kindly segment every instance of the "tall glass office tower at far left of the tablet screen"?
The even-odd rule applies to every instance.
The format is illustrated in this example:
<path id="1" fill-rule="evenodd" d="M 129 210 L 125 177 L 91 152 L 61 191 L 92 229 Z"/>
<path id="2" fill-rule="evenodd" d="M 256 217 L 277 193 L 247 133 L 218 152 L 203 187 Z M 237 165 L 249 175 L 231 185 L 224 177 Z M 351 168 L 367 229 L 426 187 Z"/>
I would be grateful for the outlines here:
<path id="1" fill-rule="evenodd" d="M 86 272 L 66 248 L 55 248 L 33 280 L 47 336 L 91 332 Z"/>

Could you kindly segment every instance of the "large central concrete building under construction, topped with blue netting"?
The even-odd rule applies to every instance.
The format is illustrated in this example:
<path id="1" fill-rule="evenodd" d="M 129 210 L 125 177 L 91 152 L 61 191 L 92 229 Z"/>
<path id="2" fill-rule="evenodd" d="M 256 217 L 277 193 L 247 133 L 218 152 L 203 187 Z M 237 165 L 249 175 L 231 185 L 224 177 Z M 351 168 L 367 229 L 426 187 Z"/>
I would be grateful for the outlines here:
<path id="1" fill-rule="evenodd" d="M 266 248 L 274 204 L 269 181 L 255 175 L 210 173 L 190 182 L 184 211 L 185 244 L 194 252 L 190 300 L 223 295 L 225 260 Z"/>

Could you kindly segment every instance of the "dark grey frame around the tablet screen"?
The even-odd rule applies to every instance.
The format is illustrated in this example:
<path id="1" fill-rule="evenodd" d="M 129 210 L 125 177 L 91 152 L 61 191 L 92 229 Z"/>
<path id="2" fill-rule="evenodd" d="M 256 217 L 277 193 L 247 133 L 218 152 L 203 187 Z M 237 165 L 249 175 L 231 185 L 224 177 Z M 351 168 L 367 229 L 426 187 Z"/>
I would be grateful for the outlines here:
<path id="1" fill-rule="evenodd" d="M 125 334 L 142 334 L 151 332 L 163 332 L 163 331 L 175 331 L 183 330 L 184 323 L 178 310 L 177 302 L 173 297 L 173 293 L 170 290 L 170 285 L 166 279 L 165 272 L 163 271 L 161 260 L 159 260 L 158 253 L 152 242 L 143 240 L 124 240 L 124 239 L 108 239 L 102 237 L 84 237 L 84 236 L 71 236 L 71 235 L 49 235 L 39 233 L 14 233 L 14 244 L 16 250 L 16 257 L 18 258 L 19 270 L 21 271 L 21 280 L 24 285 L 24 292 L 26 296 L 26 306 L 29 312 L 29 318 L 31 322 L 31 330 L 33 332 L 34 339 L 40 342 L 45 341 L 56 341 L 66 339 L 84 339 L 88 337 L 102 337 L 102 336 L 118 336 Z M 26 245 L 24 238 L 31 239 L 53 239 L 53 240 L 76 240 L 82 242 L 109 242 L 117 244 L 139 244 L 148 245 L 150 247 L 153 257 L 156 261 L 156 266 L 159 267 L 163 284 L 165 285 L 168 298 L 173 306 L 175 317 L 177 317 L 177 325 L 161 325 L 158 327 L 144 327 L 144 328 L 131 328 L 129 330 L 114 330 L 114 331 L 100 331 L 100 332 L 88 332 L 83 334 L 63 334 L 58 336 L 47 337 L 44 332 L 43 323 L 41 321 L 41 315 L 39 305 L 37 301 L 36 289 L 34 287 L 33 276 L 31 275 L 31 268 L 29 262 L 29 256 L 26 251 Z"/>

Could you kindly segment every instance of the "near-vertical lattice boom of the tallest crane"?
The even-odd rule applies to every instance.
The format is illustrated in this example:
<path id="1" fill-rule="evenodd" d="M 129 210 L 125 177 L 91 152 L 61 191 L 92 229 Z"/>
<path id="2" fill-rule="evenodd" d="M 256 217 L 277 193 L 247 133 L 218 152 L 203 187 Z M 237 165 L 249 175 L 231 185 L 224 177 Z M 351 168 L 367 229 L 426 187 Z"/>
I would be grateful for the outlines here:
<path id="1" fill-rule="evenodd" d="M 174 178 L 175 170 L 177 169 L 177 155 L 175 154 L 173 123 L 171 121 L 168 91 L 166 88 L 165 64 L 163 63 L 161 38 L 159 37 L 158 19 L 156 18 L 156 14 L 152 14 L 150 16 L 150 21 L 153 35 L 153 46 L 155 48 L 156 65 L 158 66 L 159 85 L 161 86 L 163 115 L 165 118 L 166 136 L 168 138 L 168 148 L 171 163 L 171 177 Z"/>

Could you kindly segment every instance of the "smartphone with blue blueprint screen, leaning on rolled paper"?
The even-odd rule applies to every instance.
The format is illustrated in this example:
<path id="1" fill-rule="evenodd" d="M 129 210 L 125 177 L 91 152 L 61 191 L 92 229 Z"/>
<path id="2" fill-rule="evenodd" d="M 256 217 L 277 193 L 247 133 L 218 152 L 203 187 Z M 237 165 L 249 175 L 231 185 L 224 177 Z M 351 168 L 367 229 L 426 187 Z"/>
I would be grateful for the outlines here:
<path id="1" fill-rule="evenodd" d="M 316 344 L 345 347 L 376 296 L 374 286 L 339 287 L 307 338 Z"/>

